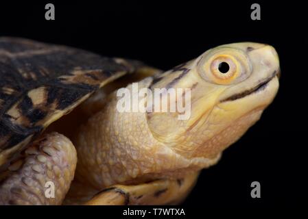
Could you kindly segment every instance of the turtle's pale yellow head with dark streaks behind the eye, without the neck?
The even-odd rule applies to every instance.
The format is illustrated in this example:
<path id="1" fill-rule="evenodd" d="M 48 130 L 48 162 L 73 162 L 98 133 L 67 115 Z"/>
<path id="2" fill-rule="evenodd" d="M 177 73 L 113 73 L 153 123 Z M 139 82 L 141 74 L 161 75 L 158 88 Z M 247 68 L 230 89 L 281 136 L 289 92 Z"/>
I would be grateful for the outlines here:
<path id="1" fill-rule="evenodd" d="M 151 113 L 156 139 L 187 158 L 217 157 L 259 120 L 279 88 L 279 57 L 268 44 L 241 42 L 210 49 L 163 74 L 155 88 L 187 88 L 182 112 Z M 187 94 L 187 92 L 186 92 Z"/>

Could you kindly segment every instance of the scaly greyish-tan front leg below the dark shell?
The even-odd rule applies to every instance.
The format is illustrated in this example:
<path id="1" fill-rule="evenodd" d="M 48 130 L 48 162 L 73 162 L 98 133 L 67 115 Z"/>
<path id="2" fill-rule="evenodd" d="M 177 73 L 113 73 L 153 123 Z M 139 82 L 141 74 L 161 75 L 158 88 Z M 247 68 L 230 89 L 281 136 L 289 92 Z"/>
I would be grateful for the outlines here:
<path id="1" fill-rule="evenodd" d="M 50 133 L 24 153 L 23 158 L 8 168 L 8 177 L 1 182 L 0 205 L 60 205 L 73 180 L 77 162 L 71 141 Z M 54 198 L 45 196 L 49 181 L 55 186 Z"/>

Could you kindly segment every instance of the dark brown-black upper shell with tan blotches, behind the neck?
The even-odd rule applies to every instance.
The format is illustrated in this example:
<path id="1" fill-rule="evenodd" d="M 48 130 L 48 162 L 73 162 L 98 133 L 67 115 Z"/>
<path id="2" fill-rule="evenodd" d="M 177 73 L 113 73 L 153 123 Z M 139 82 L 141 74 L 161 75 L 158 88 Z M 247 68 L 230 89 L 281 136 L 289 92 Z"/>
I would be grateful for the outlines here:
<path id="1" fill-rule="evenodd" d="M 95 90 L 141 66 L 71 47 L 0 38 L 0 167 Z"/>

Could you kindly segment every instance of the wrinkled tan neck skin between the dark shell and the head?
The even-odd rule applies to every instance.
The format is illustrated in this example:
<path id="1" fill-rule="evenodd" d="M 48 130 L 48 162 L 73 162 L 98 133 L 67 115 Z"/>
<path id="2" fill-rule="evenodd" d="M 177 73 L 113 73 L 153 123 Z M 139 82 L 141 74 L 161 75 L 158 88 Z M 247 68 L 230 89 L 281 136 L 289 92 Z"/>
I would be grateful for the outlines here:
<path id="1" fill-rule="evenodd" d="M 147 88 L 151 82 L 149 77 L 141 81 L 139 87 Z M 73 141 L 81 157 L 76 170 L 80 181 L 102 189 L 117 183 L 183 177 L 219 159 L 220 153 L 211 158 L 179 153 L 185 149 L 184 144 L 176 147 L 176 144 L 156 139 L 146 112 L 118 112 L 119 98 L 115 93 L 111 95 L 112 101 L 88 120 Z"/>

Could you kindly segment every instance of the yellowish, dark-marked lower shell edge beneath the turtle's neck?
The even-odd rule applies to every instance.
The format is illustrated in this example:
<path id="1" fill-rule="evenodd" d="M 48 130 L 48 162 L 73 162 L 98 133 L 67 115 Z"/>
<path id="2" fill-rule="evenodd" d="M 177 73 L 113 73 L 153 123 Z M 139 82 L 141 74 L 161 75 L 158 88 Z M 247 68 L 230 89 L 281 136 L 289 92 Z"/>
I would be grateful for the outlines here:
<path id="1" fill-rule="evenodd" d="M 198 179 L 193 172 L 181 179 L 160 179 L 139 185 L 114 185 L 85 205 L 175 205 L 187 196 Z"/>

